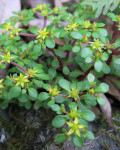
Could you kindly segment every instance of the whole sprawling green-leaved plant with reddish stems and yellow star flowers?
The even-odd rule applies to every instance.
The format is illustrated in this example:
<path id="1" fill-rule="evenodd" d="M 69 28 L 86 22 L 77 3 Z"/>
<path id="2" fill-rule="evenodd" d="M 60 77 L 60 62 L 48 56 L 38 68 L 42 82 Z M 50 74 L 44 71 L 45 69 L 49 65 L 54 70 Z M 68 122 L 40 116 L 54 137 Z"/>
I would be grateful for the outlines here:
<path id="1" fill-rule="evenodd" d="M 80 3 L 72 8 L 73 14 L 65 6 L 51 9 L 49 4 L 39 4 L 14 12 L 15 16 L 0 25 L 0 69 L 10 64 L 0 79 L 0 108 L 16 103 L 26 109 L 51 109 L 56 114 L 53 127 L 66 124 L 68 128 L 63 127 L 55 141 L 72 139 L 81 147 L 84 138 L 94 139 L 88 130 L 88 122 L 95 119 L 91 107 L 105 105 L 99 93 L 109 90 L 99 79 L 106 74 L 120 75 L 120 39 L 115 36 L 120 16 L 107 14 L 115 23 L 112 36 L 103 22 L 88 19 L 95 18 L 91 7 Z M 42 29 L 28 28 L 36 12 L 44 16 Z M 48 26 L 47 20 L 51 21 Z"/>

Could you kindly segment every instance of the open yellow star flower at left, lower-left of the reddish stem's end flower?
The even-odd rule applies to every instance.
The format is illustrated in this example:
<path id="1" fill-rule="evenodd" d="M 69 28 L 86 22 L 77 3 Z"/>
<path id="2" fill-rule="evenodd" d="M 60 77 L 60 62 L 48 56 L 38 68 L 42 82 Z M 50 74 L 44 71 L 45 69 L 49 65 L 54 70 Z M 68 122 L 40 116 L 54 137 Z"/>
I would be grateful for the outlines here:
<path id="1" fill-rule="evenodd" d="M 24 87 L 24 84 L 26 82 L 29 82 L 29 80 L 27 78 L 28 78 L 28 76 L 23 76 L 22 73 L 20 73 L 19 77 L 14 78 L 14 80 L 17 81 L 15 86 L 21 85 L 22 87 Z"/>

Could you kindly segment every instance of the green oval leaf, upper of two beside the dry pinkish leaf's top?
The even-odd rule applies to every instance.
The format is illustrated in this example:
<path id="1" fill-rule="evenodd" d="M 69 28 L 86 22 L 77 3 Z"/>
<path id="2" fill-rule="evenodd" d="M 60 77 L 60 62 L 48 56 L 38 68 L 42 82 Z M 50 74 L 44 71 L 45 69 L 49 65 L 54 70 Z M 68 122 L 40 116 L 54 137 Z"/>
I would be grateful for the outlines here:
<path id="1" fill-rule="evenodd" d="M 109 91 L 109 86 L 106 83 L 100 83 L 95 89 L 95 92 L 98 93 L 106 93 L 108 91 Z"/>

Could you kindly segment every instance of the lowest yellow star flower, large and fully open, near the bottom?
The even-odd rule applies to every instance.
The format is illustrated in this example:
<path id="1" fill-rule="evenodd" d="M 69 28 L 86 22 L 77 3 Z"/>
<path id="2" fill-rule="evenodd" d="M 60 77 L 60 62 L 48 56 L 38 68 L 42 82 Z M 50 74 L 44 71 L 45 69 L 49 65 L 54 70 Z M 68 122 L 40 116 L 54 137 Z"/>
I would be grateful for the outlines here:
<path id="1" fill-rule="evenodd" d="M 84 128 L 85 125 L 80 125 L 78 118 L 75 118 L 74 122 L 67 122 L 68 126 L 71 128 L 66 135 L 71 135 L 72 133 L 76 133 L 80 137 L 80 129 Z"/>

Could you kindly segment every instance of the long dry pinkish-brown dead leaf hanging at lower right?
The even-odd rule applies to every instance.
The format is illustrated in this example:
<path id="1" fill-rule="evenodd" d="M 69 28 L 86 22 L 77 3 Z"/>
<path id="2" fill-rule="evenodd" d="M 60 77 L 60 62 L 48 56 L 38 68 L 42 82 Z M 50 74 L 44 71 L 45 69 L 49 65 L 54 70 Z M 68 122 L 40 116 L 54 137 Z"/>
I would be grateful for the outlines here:
<path id="1" fill-rule="evenodd" d="M 104 116 L 106 117 L 106 119 L 109 122 L 110 126 L 113 128 L 113 130 L 116 131 L 115 126 L 112 122 L 112 109 L 111 109 L 110 102 L 108 101 L 107 97 L 104 94 L 100 93 L 99 96 L 101 98 L 104 98 L 105 101 L 106 101 L 106 104 L 105 105 L 100 105 L 100 108 L 101 108 L 102 112 L 104 113 Z"/>

